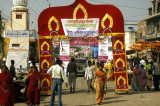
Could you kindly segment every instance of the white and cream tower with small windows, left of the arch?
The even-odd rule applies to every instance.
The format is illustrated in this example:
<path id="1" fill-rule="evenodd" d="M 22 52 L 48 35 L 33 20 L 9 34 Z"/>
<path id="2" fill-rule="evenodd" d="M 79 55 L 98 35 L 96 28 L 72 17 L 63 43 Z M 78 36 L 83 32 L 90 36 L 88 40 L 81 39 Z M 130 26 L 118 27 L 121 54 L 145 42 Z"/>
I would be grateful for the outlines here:
<path id="1" fill-rule="evenodd" d="M 4 38 L 9 38 L 6 65 L 15 61 L 15 67 L 27 69 L 29 53 L 29 14 L 27 0 L 13 0 L 11 21 L 5 29 Z"/>

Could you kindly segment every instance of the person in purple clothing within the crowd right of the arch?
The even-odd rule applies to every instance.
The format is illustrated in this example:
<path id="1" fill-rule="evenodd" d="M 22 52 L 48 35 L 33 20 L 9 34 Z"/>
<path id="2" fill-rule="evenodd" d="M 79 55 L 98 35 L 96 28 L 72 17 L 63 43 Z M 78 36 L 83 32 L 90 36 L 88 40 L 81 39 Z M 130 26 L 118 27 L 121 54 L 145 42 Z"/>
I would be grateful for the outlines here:
<path id="1" fill-rule="evenodd" d="M 141 65 L 141 89 L 144 90 L 147 83 L 146 69 Z"/>

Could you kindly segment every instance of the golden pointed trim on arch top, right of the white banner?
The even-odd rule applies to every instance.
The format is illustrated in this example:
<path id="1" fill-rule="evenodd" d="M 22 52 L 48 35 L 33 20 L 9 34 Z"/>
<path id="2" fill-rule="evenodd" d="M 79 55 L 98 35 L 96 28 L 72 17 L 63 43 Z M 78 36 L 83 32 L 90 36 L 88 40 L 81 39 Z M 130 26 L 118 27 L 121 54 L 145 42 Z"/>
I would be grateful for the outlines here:
<path id="1" fill-rule="evenodd" d="M 104 29 L 106 28 L 106 26 L 104 25 L 104 22 L 106 21 L 106 19 L 109 19 L 110 21 L 110 25 L 109 25 L 109 28 L 112 28 L 113 27 L 113 18 L 108 14 L 106 13 L 106 15 L 103 17 L 102 21 L 101 21 L 101 27 Z"/>

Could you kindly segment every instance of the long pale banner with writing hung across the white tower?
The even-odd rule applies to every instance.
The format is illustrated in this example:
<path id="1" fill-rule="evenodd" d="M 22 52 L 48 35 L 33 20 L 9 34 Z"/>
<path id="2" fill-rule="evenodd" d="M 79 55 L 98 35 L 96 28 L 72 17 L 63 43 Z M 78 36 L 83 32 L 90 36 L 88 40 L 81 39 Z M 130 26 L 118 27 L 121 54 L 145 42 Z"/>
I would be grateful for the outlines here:
<path id="1" fill-rule="evenodd" d="M 6 38 L 12 37 L 29 37 L 29 31 L 26 30 L 7 30 L 5 31 Z"/>

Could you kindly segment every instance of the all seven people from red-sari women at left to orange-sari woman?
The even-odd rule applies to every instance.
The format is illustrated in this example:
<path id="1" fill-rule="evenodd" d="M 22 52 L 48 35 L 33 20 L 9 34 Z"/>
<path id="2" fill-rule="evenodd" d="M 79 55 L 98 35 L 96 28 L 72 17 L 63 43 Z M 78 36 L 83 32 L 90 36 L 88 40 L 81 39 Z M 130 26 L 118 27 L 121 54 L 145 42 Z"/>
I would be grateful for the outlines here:
<path id="1" fill-rule="evenodd" d="M 101 104 L 103 96 L 105 94 L 105 86 L 107 84 L 107 72 L 104 70 L 103 63 L 97 63 L 88 61 L 88 66 L 85 70 L 84 78 L 87 80 L 88 93 L 90 89 L 94 91 L 96 88 L 97 104 Z M 13 77 L 15 77 L 14 61 L 11 61 L 10 70 L 7 66 L 1 67 L 0 73 L 0 105 L 2 106 L 13 106 L 15 99 Z M 56 63 L 51 66 L 48 74 L 52 76 L 52 94 L 50 105 L 54 106 L 55 103 L 55 92 L 58 93 L 58 105 L 62 106 L 61 94 L 62 94 L 62 83 L 69 85 L 70 93 L 76 92 L 76 78 L 77 78 L 77 65 L 75 59 L 71 58 L 71 61 L 67 66 L 67 76 L 65 76 L 64 67 L 60 59 L 56 60 Z M 25 88 L 23 93 L 26 94 L 28 105 L 39 105 L 40 104 L 40 72 L 37 67 L 33 65 L 30 67 L 28 76 L 25 80 Z M 95 86 L 96 83 L 96 86 Z M 10 101 L 10 102 L 8 102 Z"/>

